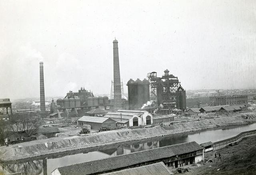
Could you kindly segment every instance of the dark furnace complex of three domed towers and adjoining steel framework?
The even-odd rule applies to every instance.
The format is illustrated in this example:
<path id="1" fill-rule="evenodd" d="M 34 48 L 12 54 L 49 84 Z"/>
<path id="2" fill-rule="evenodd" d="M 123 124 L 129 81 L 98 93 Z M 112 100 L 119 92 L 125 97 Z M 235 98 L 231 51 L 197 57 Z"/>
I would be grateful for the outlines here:
<path id="1" fill-rule="evenodd" d="M 147 101 L 161 104 L 164 109 L 186 109 L 186 91 L 178 77 L 169 75 L 169 70 L 165 70 L 162 77 L 157 77 L 156 72 L 148 73 L 147 77 L 148 80 L 127 82 L 129 109 L 140 108 Z"/>

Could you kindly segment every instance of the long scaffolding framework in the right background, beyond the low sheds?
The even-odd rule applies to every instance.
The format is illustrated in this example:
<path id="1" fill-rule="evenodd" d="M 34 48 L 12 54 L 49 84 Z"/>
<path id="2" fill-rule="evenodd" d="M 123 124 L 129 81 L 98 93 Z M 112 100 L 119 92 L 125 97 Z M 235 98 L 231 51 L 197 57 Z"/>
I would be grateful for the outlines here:
<path id="1" fill-rule="evenodd" d="M 209 97 L 209 106 L 240 105 L 248 102 L 248 95 L 221 95 Z"/>

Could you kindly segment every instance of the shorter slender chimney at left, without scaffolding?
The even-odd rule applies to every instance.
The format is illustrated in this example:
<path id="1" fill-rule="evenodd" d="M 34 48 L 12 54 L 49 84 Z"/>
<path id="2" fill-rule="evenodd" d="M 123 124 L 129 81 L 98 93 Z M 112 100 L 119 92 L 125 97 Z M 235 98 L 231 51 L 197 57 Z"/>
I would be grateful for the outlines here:
<path id="1" fill-rule="evenodd" d="M 45 111 L 45 97 L 44 97 L 44 63 L 39 62 L 40 64 L 40 116 L 42 118 L 46 117 Z"/>

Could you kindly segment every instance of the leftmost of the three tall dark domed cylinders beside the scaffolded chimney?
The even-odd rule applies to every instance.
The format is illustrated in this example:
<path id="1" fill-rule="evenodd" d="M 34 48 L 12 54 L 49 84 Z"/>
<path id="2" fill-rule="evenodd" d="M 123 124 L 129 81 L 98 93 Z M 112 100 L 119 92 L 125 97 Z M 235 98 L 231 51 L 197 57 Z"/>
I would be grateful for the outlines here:
<path id="1" fill-rule="evenodd" d="M 137 94 L 136 94 L 136 83 L 134 80 L 130 79 L 127 84 L 128 86 L 128 105 L 129 109 L 134 109 L 137 103 Z"/>

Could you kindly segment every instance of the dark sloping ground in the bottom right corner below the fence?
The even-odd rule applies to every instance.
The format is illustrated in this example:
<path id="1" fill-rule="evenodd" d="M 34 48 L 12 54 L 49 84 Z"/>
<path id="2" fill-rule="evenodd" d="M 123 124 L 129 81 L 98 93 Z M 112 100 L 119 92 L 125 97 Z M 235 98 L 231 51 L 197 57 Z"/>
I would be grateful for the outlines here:
<path id="1" fill-rule="evenodd" d="M 219 157 L 214 158 L 216 153 Z M 256 136 L 242 139 L 238 145 L 227 146 L 223 149 L 205 153 L 204 158 L 209 161 L 191 167 L 190 175 L 255 175 L 256 174 Z M 219 170 L 218 170 L 219 169 Z"/>

